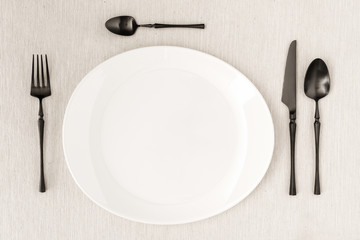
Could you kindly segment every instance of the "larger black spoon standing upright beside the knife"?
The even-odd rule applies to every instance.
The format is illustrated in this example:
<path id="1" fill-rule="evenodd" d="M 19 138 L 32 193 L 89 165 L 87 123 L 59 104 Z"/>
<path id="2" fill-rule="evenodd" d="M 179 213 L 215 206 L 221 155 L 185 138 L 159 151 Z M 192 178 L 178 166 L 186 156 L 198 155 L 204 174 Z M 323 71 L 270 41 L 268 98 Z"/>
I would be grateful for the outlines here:
<path id="1" fill-rule="evenodd" d="M 316 167 L 315 167 L 315 188 L 314 194 L 320 195 L 320 177 L 319 177 L 319 140 L 320 140 L 320 114 L 318 101 L 329 94 L 330 75 L 325 62 L 319 58 L 315 59 L 309 65 L 304 82 L 304 91 L 306 96 L 315 100 L 315 146 L 316 146 Z"/>

